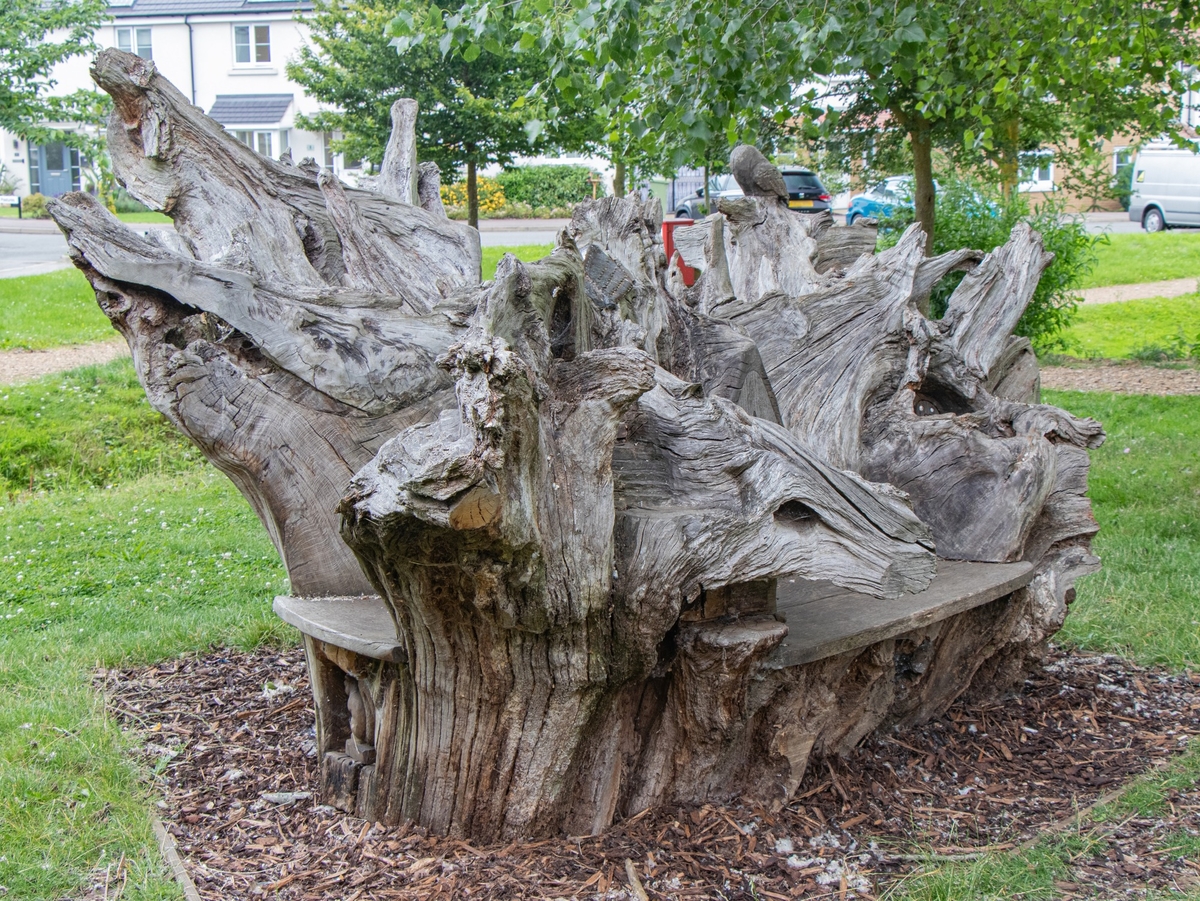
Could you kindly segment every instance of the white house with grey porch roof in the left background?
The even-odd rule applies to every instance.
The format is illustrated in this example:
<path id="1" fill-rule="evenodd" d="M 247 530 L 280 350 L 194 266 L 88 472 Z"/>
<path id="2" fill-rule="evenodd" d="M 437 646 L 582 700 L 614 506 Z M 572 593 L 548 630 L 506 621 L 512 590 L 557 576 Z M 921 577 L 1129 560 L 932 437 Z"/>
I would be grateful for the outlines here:
<path id="1" fill-rule="evenodd" d="M 110 0 L 101 47 L 154 60 L 158 71 L 230 133 L 262 154 L 292 150 L 341 174 L 332 136 L 300 131 L 299 113 L 319 106 L 288 80 L 284 64 L 308 40 L 296 14 L 307 0 Z M 54 71 L 55 94 L 94 89 L 90 59 L 74 56 Z M 18 193 L 54 196 L 82 187 L 78 151 L 64 144 L 31 146 L 0 131 L 0 162 L 23 180 Z"/>

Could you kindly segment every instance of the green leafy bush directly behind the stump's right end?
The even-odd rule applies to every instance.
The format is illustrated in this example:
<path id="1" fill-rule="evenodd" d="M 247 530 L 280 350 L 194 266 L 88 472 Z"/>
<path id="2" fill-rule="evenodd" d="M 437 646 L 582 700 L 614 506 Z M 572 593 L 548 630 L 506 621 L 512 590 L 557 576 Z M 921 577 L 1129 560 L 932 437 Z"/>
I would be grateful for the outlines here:
<path id="1" fill-rule="evenodd" d="M 1062 202 L 1052 197 L 1031 209 L 1020 193 L 1006 200 L 996 188 L 980 182 L 948 179 L 940 184 L 935 254 L 960 247 L 991 252 L 1008 240 L 1019 222 L 1028 223 L 1042 235 L 1045 248 L 1054 254 L 1054 262 L 1042 274 L 1033 298 L 1013 331 L 1032 341 L 1039 352 L 1061 347 L 1058 335 L 1069 325 L 1079 302 L 1075 292 L 1096 265 L 1096 244 L 1108 239 L 1090 235 L 1082 216 L 1066 215 Z M 912 221 L 911 208 L 881 221 L 881 248 L 894 245 Z M 960 281 L 962 274 L 952 272 L 938 283 L 930 298 L 931 316 L 941 317 L 946 312 L 950 294 Z"/>

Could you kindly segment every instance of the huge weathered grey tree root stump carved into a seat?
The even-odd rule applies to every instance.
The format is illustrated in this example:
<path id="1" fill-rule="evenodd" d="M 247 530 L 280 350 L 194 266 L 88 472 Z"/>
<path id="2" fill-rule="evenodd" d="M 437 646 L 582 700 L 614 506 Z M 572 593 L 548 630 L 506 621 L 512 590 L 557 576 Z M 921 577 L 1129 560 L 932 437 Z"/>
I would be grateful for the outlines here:
<path id="1" fill-rule="evenodd" d="M 367 192 L 254 155 L 151 62 L 94 74 L 114 169 L 175 230 L 82 194 L 52 214 L 294 591 L 343 599 L 304 601 L 331 803 L 475 839 L 779 803 L 810 753 L 1007 685 L 1094 567 L 1102 433 L 1031 403 L 1009 338 L 1046 264 L 1027 230 L 982 260 L 917 232 L 859 256 L 869 229 L 749 197 L 679 233 L 704 270 L 684 289 L 656 202 L 606 198 L 481 283 L 415 104 Z M 920 316 L 961 266 L 946 319 Z M 938 557 L 1032 581 L 788 662 L 781 579 L 904 606 Z"/>

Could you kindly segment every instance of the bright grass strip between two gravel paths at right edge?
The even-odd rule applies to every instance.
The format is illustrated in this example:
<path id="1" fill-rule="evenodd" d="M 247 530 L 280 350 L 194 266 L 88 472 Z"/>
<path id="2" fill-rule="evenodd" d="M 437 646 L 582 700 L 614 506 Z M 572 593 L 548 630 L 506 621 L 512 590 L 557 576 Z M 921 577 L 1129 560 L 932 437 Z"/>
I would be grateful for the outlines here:
<path id="1" fill-rule="evenodd" d="M 1061 336 L 1080 358 L 1187 359 L 1200 344 L 1200 294 L 1081 304 Z"/>

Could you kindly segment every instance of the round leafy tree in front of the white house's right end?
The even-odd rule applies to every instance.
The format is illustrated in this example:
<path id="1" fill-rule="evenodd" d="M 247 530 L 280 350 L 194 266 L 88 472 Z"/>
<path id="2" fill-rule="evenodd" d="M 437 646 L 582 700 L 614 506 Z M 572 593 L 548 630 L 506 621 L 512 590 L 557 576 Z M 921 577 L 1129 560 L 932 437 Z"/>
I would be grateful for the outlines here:
<path id="1" fill-rule="evenodd" d="M 385 35 L 400 14 L 424 22 L 439 17 L 436 4 L 400 0 L 317 0 L 305 20 L 312 46 L 288 65 L 288 76 L 334 109 L 304 118 L 302 127 L 342 133 L 340 149 L 352 158 L 378 163 L 391 130 L 391 104 L 412 97 L 421 106 L 418 143 L 422 158 L 443 172 L 466 169 L 468 217 L 479 223 L 476 172 L 487 163 L 508 163 L 517 154 L 554 144 L 584 146 L 586 122 L 566 118 L 545 128 L 527 104 L 545 64 L 532 54 L 514 54 L 490 43 L 473 54 L 443 58 L 432 43 L 397 52 Z"/>

